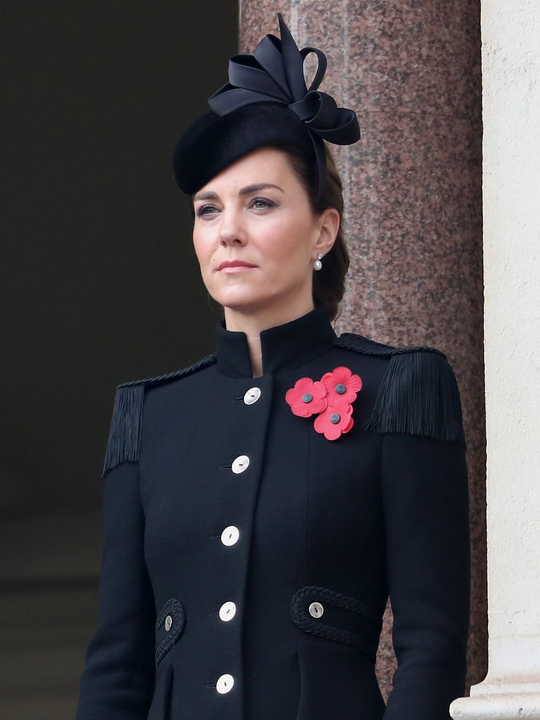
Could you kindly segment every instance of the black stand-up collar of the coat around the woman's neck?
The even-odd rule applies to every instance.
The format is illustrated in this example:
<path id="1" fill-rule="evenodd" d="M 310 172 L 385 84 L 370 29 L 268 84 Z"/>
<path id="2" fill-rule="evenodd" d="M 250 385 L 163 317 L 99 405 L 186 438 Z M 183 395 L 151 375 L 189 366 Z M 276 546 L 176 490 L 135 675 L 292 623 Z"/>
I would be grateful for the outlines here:
<path id="1" fill-rule="evenodd" d="M 229 377 L 253 377 L 246 333 L 217 323 L 217 366 Z M 300 318 L 261 330 L 263 374 L 281 373 L 302 367 L 325 354 L 336 339 L 328 312 L 318 305 Z"/>

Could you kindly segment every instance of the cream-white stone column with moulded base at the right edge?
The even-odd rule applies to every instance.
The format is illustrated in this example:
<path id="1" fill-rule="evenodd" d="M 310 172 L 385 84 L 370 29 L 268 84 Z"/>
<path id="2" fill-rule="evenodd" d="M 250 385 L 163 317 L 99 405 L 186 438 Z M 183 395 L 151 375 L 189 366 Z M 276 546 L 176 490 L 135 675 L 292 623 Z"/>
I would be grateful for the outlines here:
<path id="1" fill-rule="evenodd" d="M 456 720 L 540 719 L 540 6 L 482 3 L 489 672 Z"/>

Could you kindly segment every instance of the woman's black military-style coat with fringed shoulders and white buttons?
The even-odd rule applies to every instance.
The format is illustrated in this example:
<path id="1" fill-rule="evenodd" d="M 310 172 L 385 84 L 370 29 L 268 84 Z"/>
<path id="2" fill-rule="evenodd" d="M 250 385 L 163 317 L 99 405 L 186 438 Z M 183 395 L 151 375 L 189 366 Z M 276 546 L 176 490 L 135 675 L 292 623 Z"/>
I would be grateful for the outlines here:
<path id="1" fill-rule="evenodd" d="M 446 356 L 337 338 L 322 307 L 261 346 L 252 377 L 246 336 L 220 321 L 216 354 L 117 388 L 77 720 L 449 719 L 465 689 L 469 495 Z M 353 427 L 329 440 L 285 395 L 339 366 L 361 390 Z"/>

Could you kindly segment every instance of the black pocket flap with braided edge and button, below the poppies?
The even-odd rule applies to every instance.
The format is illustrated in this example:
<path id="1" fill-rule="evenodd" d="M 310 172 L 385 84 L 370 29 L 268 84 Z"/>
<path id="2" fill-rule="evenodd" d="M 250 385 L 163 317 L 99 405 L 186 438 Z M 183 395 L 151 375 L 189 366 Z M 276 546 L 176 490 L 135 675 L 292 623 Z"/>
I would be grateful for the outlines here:
<path id="1" fill-rule="evenodd" d="M 329 588 L 306 585 L 294 593 L 291 616 L 302 630 L 377 655 L 382 618 L 356 598 Z"/>

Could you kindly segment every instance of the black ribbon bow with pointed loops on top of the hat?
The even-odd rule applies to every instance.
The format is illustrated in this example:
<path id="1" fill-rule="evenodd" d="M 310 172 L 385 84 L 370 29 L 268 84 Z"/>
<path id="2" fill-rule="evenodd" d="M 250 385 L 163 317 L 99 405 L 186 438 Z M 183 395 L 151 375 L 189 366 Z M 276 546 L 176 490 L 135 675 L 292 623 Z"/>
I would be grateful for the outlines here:
<path id="1" fill-rule="evenodd" d="M 281 40 L 266 35 L 253 55 L 233 55 L 229 82 L 210 97 L 208 104 L 220 116 L 251 104 L 286 105 L 309 130 L 318 165 L 319 199 L 326 175 L 323 140 L 335 145 L 356 143 L 361 137 L 358 119 L 354 110 L 338 107 L 332 96 L 318 90 L 326 71 L 325 54 L 317 48 L 299 50 L 282 14 L 277 15 Z M 318 68 L 307 89 L 304 60 L 310 53 L 317 55 Z"/>

